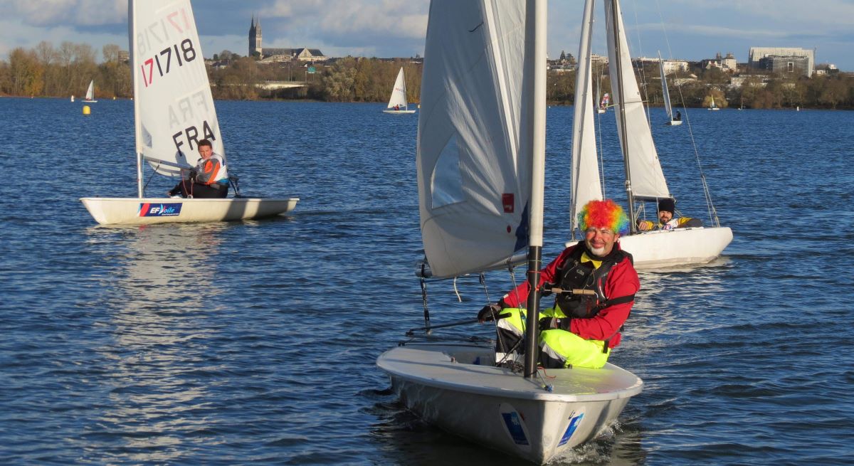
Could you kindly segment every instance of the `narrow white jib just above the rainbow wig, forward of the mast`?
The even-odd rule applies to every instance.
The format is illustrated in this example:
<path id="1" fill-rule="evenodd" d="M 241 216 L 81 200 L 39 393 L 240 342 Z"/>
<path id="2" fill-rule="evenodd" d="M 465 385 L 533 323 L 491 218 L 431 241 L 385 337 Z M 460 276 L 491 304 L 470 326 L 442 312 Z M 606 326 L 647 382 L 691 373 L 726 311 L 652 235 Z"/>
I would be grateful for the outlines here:
<path id="1" fill-rule="evenodd" d="M 582 36 L 578 46 L 575 113 L 572 118 L 572 208 L 570 211 L 572 231 L 576 229 L 578 221 L 576 215 L 582 207 L 588 201 L 602 199 L 593 118 L 596 111 L 595 102 L 594 105 L 590 105 L 593 93 L 590 39 L 593 35 L 594 3 L 595 0 L 587 0 L 584 3 Z"/>

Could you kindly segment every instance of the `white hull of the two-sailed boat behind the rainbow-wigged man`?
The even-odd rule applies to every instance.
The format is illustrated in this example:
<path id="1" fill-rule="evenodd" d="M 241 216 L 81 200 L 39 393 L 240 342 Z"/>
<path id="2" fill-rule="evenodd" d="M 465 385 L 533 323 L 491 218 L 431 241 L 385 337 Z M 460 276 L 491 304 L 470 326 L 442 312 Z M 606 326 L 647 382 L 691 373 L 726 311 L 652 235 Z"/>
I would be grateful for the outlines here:
<path id="1" fill-rule="evenodd" d="M 620 246 L 635 259 L 635 269 L 705 264 L 721 255 L 733 241 L 729 227 L 646 231 L 620 238 Z"/>

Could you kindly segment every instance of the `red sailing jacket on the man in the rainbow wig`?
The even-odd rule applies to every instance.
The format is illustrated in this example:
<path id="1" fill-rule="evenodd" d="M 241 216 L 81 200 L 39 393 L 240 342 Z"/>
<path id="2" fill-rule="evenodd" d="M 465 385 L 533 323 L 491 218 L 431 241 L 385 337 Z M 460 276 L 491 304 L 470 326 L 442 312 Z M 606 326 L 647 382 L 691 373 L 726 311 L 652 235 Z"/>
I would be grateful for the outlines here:
<path id="1" fill-rule="evenodd" d="M 580 243 L 582 244 L 582 243 Z M 614 243 L 614 248 L 620 248 L 619 242 Z M 579 248 L 579 245 L 570 246 L 564 249 L 563 253 L 554 259 L 549 265 L 541 270 L 540 284 L 543 283 L 558 283 L 559 277 L 556 277 L 558 266 L 564 263 L 567 256 Z M 614 265 L 611 271 L 608 272 L 608 277 L 605 281 L 605 296 L 609 300 L 619 298 L 621 296 L 629 296 L 637 293 L 640 289 L 640 280 L 638 280 L 635 266 L 632 265 L 628 257 L 623 261 Z M 502 300 L 507 307 L 518 307 L 520 303 L 527 303 L 529 294 L 529 284 L 527 281 L 519 285 L 516 289 L 506 294 Z M 608 347 L 617 347 L 620 344 L 621 336 L 620 327 L 629 318 L 629 312 L 632 310 L 632 305 L 635 301 L 623 304 L 615 304 L 603 308 L 598 314 L 591 318 L 573 318 L 570 325 L 570 331 L 585 340 L 607 340 Z"/>

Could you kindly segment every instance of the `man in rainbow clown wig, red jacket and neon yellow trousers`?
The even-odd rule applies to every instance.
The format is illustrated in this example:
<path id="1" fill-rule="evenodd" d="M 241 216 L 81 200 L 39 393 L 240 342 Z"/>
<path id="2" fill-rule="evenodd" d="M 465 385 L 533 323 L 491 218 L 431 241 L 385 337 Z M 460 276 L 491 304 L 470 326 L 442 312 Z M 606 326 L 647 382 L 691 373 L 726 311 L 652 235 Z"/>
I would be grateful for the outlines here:
<path id="1" fill-rule="evenodd" d="M 554 296 L 554 305 L 540 313 L 540 364 L 547 369 L 605 365 L 640 289 L 632 256 L 617 241 L 629 233 L 623 208 L 610 199 L 589 201 L 578 224 L 584 240 L 564 249 L 540 275 L 542 295 Z M 519 306 L 529 292 L 529 283 L 522 283 L 477 314 L 482 322 L 497 320 L 497 364 L 524 350 L 525 310 Z"/>

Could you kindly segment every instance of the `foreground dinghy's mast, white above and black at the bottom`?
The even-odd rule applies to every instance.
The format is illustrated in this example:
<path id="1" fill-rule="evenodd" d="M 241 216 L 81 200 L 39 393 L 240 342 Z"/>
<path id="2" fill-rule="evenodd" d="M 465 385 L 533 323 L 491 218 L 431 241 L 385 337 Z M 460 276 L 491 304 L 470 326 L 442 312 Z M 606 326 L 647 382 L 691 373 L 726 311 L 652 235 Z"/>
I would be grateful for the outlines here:
<path id="1" fill-rule="evenodd" d="M 530 125 L 531 198 L 528 252 L 528 316 L 525 335 L 524 377 L 536 374 L 537 341 L 540 335 L 540 267 L 542 263 L 542 211 L 546 174 L 546 0 L 527 0 L 525 8 L 525 67 L 524 73 L 533 77 L 528 94 L 523 98 L 533 102 Z"/>

